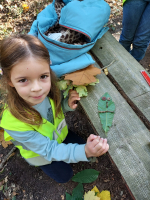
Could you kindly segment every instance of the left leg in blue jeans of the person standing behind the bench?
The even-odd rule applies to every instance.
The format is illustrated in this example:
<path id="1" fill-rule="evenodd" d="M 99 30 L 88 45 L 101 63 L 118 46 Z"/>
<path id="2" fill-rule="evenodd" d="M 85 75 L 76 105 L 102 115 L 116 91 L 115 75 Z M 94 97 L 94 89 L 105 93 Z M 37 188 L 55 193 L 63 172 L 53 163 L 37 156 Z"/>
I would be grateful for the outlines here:
<path id="1" fill-rule="evenodd" d="M 119 42 L 128 52 L 146 6 L 147 2 L 144 0 L 127 0 L 123 6 L 123 29 Z"/>

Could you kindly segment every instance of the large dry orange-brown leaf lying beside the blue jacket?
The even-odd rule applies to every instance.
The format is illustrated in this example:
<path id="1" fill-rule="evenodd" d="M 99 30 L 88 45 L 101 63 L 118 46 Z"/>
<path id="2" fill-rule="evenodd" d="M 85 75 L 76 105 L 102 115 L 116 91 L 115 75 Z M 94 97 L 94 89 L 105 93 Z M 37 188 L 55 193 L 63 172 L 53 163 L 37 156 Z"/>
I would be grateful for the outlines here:
<path id="1" fill-rule="evenodd" d="M 96 78 L 94 76 L 100 73 L 100 69 L 94 67 L 94 65 L 89 65 L 84 69 L 66 74 L 64 80 L 72 80 L 73 85 L 86 85 L 96 82 Z"/>

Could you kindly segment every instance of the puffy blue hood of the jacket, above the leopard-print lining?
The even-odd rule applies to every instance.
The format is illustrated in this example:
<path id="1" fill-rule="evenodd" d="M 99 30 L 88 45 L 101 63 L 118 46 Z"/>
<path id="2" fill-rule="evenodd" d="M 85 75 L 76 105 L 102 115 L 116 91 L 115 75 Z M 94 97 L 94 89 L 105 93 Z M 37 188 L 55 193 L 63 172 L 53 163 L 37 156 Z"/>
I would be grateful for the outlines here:
<path id="1" fill-rule="evenodd" d="M 107 23 L 109 15 L 109 5 L 103 0 L 72 1 L 62 8 L 59 24 L 78 30 L 91 42 Z"/>

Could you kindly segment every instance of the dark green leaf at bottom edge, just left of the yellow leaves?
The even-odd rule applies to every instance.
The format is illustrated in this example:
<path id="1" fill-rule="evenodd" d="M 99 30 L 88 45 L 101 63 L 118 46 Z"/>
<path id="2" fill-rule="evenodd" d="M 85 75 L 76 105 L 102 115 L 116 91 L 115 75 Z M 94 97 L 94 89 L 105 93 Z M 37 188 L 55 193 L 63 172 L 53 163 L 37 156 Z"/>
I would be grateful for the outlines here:
<path id="1" fill-rule="evenodd" d="M 79 183 L 76 188 L 73 189 L 71 200 L 82 200 L 84 195 L 84 189 L 82 183 Z"/>

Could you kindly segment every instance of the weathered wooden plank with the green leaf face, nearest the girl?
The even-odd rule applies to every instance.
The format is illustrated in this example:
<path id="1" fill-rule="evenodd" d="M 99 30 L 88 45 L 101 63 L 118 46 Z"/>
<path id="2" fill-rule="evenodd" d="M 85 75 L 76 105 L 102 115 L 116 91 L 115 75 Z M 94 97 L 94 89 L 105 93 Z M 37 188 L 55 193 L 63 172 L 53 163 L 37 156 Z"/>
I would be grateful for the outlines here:
<path id="1" fill-rule="evenodd" d="M 99 67 L 97 64 L 95 66 Z M 81 106 L 97 133 L 106 137 L 98 116 L 98 100 L 108 92 L 116 105 L 113 125 L 107 139 L 109 154 L 136 200 L 150 198 L 150 132 L 104 73 L 95 86 L 88 86 L 88 96 Z"/>

